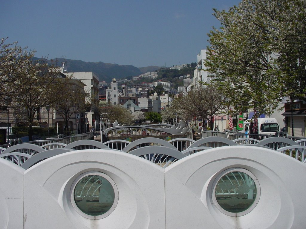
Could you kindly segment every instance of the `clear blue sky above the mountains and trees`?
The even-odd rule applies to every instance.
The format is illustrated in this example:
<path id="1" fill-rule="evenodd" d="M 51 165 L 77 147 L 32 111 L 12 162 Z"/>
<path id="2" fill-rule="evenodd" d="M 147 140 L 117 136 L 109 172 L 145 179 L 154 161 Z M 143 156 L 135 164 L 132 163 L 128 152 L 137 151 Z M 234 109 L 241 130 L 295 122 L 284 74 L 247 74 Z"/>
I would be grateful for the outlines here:
<path id="1" fill-rule="evenodd" d="M 36 50 L 36 57 L 170 67 L 196 62 L 219 27 L 219 1 L 2 1 L 0 37 Z"/>

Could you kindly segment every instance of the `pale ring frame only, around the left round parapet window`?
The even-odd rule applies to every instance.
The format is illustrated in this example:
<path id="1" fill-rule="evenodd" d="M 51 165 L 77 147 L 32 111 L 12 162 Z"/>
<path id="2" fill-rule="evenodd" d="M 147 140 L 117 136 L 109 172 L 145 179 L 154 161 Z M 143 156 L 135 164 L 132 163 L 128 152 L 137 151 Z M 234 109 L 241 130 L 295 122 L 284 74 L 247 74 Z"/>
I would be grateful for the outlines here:
<path id="1" fill-rule="evenodd" d="M 106 213 L 103 213 L 101 215 L 97 215 L 97 216 L 92 216 L 92 215 L 88 215 L 86 213 L 84 213 L 77 205 L 76 205 L 76 202 L 74 200 L 74 190 L 75 190 L 75 187 L 76 187 L 76 184 L 82 180 L 84 177 L 86 176 L 90 176 L 90 175 L 96 175 L 96 176 L 101 176 L 103 177 L 104 179 L 106 179 L 110 184 L 111 186 L 113 187 L 114 189 L 114 203 L 113 205 L 111 206 L 111 208 L 106 212 Z M 117 207 L 117 204 L 118 204 L 118 201 L 119 201 L 119 191 L 118 191 L 118 187 L 117 185 L 115 184 L 114 180 L 112 178 L 110 178 L 110 176 L 106 175 L 105 173 L 102 173 L 102 172 L 99 172 L 99 171 L 89 171 L 89 172 L 85 172 L 85 173 L 82 173 L 80 176 L 78 176 L 74 181 L 73 181 L 73 184 L 71 185 L 71 188 L 70 188 L 70 202 L 72 204 L 72 207 L 74 208 L 74 210 L 80 214 L 81 216 L 87 218 L 87 219 L 91 219 L 91 220 L 99 220 L 99 219 L 103 219 L 107 216 L 109 216 L 111 213 L 113 213 L 113 211 L 115 210 L 115 208 Z"/>

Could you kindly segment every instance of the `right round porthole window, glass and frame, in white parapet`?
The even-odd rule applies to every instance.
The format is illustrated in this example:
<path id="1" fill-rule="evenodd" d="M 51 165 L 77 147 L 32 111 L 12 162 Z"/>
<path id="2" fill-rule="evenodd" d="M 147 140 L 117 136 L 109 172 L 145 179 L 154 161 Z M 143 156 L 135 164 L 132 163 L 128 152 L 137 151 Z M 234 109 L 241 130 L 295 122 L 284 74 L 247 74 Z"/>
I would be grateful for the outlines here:
<path id="1" fill-rule="evenodd" d="M 223 171 L 213 184 L 212 200 L 217 209 L 229 216 L 243 216 L 258 203 L 260 187 L 250 171 L 231 168 Z"/>

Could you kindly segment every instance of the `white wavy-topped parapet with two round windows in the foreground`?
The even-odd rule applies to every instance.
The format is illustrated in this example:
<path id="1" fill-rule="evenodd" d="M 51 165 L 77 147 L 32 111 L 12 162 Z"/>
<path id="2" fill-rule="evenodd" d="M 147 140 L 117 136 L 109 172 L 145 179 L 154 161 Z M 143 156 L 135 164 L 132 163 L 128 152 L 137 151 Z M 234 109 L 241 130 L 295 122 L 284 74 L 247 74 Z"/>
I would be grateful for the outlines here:
<path id="1" fill-rule="evenodd" d="M 149 147 L 152 154 L 171 149 Z M 165 169 L 113 149 L 58 150 L 26 170 L 0 158 L 0 228 L 286 229 L 306 223 L 306 165 L 272 149 L 207 147 Z"/>

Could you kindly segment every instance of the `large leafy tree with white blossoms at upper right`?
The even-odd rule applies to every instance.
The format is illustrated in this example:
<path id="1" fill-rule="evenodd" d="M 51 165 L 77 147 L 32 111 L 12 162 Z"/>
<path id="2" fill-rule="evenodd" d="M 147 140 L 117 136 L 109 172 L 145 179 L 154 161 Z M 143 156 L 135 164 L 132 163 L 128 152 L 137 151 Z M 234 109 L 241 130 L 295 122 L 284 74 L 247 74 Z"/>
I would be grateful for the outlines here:
<path id="1" fill-rule="evenodd" d="M 282 96 L 305 98 L 305 2 L 242 0 L 215 10 L 222 27 L 209 34 L 209 71 L 236 111 L 271 114 Z"/>

